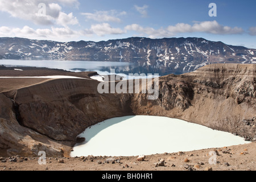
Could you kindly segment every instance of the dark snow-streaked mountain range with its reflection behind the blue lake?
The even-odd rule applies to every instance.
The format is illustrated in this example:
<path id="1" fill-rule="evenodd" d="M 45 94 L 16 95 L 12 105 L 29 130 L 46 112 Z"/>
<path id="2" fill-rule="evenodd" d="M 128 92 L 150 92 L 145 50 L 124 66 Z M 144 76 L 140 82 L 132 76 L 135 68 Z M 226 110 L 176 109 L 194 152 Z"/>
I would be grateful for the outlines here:
<path id="1" fill-rule="evenodd" d="M 154 72 L 181 74 L 213 63 L 256 63 L 256 49 L 203 38 L 127 38 L 102 42 L 0 38 L 0 59 L 122 61 Z"/>

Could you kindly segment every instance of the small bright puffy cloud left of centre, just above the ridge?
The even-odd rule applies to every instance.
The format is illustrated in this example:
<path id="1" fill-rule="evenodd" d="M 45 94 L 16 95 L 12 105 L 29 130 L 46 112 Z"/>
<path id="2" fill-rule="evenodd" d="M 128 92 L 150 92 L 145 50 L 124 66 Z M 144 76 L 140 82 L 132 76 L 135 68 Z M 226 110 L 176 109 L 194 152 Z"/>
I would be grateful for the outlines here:
<path id="1" fill-rule="evenodd" d="M 109 23 L 93 24 L 90 30 L 98 36 L 125 33 L 121 28 L 113 28 Z"/>

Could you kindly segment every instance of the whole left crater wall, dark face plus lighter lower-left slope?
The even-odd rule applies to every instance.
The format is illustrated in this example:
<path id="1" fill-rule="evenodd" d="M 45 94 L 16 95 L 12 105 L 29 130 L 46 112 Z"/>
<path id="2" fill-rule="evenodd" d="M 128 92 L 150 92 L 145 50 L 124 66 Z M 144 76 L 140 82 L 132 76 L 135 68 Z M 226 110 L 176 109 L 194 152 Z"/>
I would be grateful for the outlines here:
<path id="1" fill-rule="evenodd" d="M 100 95 L 98 82 L 48 80 L 1 93 L 0 155 L 68 156 L 77 135 L 108 118 L 133 115 L 129 97 Z"/>

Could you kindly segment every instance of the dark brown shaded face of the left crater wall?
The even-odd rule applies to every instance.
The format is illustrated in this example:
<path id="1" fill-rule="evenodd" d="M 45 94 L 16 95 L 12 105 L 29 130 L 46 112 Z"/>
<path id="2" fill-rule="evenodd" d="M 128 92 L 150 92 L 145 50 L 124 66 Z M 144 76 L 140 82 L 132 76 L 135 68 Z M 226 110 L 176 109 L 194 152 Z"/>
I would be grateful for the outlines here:
<path id="1" fill-rule="evenodd" d="M 20 125 L 53 140 L 75 142 L 86 127 L 133 114 L 126 110 L 121 95 L 100 95 L 97 85 L 93 80 L 59 79 L 17 90 L 13 99 Z"/>

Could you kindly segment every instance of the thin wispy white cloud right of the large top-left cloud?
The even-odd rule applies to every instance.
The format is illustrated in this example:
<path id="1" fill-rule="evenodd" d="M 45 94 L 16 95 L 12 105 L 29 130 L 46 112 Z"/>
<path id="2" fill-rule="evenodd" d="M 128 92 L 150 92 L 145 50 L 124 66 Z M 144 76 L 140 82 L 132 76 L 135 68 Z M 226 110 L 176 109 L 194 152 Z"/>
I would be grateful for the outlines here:
<path id="1" fill-rule="evenodd" d="M 118 16 L 126 15 L 126 11 L 118 13 L 116 10 L 95 11 L 94 13 L 81 13 L 85 15 L 86 20 L 94 20 L 96 22 L 121 22 Z"/>

